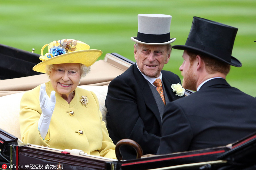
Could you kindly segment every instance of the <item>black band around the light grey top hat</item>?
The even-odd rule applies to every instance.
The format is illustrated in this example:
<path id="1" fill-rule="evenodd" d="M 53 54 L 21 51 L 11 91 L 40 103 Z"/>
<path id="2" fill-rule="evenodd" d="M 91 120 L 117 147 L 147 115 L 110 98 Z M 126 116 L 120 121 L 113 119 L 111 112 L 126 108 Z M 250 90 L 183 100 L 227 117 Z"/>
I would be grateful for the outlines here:
<path id="1" fill-rule="evenodd" d="M 137 40 L 141 42 L 147 42 L 147 43 L 163 43 L 170 41 L 170 33 L 167 34 L 144 34 L 138 32 L 137 34 Z"/>

